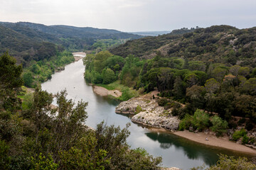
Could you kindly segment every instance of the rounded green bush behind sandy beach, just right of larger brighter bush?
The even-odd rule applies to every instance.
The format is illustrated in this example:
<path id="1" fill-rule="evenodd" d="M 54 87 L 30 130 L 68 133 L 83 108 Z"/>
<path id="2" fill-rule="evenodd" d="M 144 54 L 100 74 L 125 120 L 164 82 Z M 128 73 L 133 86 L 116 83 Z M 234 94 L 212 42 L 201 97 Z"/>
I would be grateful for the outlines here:
<path id="1" fill-rule="evenodd" d="M 227 132 L 228 122 L 222 120 L 218 115 L 214 115 L 211 123 L 213 123 L 213 127 L 210 127 L 210 129 L 213 130 L 213 132 L 216 132 L 217 136 L 221 136 L 223 135 L 223 132 Z"/>

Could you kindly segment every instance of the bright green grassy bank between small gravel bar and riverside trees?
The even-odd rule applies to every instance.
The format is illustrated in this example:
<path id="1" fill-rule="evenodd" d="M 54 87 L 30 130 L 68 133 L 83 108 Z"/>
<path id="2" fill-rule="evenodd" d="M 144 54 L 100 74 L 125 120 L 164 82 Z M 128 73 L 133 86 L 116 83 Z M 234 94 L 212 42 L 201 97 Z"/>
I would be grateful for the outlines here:
<path id="1" fill-rule="evenodd" d="M 136 96 L 139 96 L 139 92 L 132 89 L 132 88 L 129 88 L 127 86 L 124 86 L 123 84 L 120 83 L 119 80 L 117 81 L 114 81 L 113 83 L 111 84 L 97 84 L 97 86 L 102 86 L 108 90 L 119 90 L 122 92 L 122 96 L 117 98 L 119 101 L 127 101 L 129 100 L 130 98 L 133 98 L 133 97 L 136 97 Z"/>

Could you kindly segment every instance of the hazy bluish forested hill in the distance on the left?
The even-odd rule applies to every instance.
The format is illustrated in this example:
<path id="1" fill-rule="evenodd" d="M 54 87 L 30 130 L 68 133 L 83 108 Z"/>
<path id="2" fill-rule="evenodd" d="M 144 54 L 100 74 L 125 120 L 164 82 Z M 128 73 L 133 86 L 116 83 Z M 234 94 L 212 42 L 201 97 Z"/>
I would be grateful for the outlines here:
<path id="1" fill-rule="evenodd" d="M 9 53 L 16 57 L 18 63 L 23 64 L 30 60 L 43 59 L 48 47 L 56 48 L 56 51 L 64 48 L 68 50 L 90 50 L 90 47 L 97 40 L 142 38 L 141 35 L 122 33 L 118 30 L 45 26 L 27 22 L 0 22 L 0 30 L 0 52 L 9 50 Z M 41 52 L 43 54 L 40 54 Z"/>

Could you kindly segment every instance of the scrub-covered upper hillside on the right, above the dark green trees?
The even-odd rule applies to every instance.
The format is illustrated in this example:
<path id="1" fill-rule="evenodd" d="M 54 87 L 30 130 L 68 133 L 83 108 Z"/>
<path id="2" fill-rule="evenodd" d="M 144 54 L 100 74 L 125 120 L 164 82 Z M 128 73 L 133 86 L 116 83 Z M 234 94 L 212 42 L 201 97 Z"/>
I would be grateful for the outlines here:
<path id="1" fill-rule="evenodd" d="M 211 26 L 197 28 L 190 33 L 176 33 L 129 40 L 110 52 L 122 57 L 132 54 L 150 59 L 158 51 L 165 57 L 203 62 L 235 64 L 242 60 L 245 63 L 254 63 L 252 60 L 256 57 L 256 27 L 240 30 L 232 26 Z"/>

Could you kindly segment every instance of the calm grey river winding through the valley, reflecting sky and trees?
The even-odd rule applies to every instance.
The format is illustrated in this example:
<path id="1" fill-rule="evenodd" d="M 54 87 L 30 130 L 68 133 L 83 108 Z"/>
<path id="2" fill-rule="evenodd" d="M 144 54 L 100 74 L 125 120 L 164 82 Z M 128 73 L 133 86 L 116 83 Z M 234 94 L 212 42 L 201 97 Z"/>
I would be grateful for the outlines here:
<path id="1" fill-rule="evenodd" d="M 68 98 L 75 101 L 88 101 L 88 118 L 86 124 L 95 128 L 97 123 L 105 120 L 108 125 L 119 125 L 124 128 L 127 123 L 131 123 L 129 131 L 131 135 L 128 143 L 132 148 L 143 147 L 149 154 L 155 157 L 163 157 L 163 166 L 175 166 L 180 169 L 190 169 L 195 166 L 215 164 L 220 153 L 238 155 L 225 149 L 207 147 L 196 142 L 183 139 L 173 135 L 171 132 L 156 132 L 131 122 L 125 115 L 114 113 L 117 101 L 109 98 L 97 96 L 92 91 L 92 86 L 85 83 L 83 78 L 85 67 L 82 60 L 74 62 L 65 67 L 63 72 L 53 75 L 53 78 L 42 84 L 42 89 L 50 93 L 66 89 Z"/>

